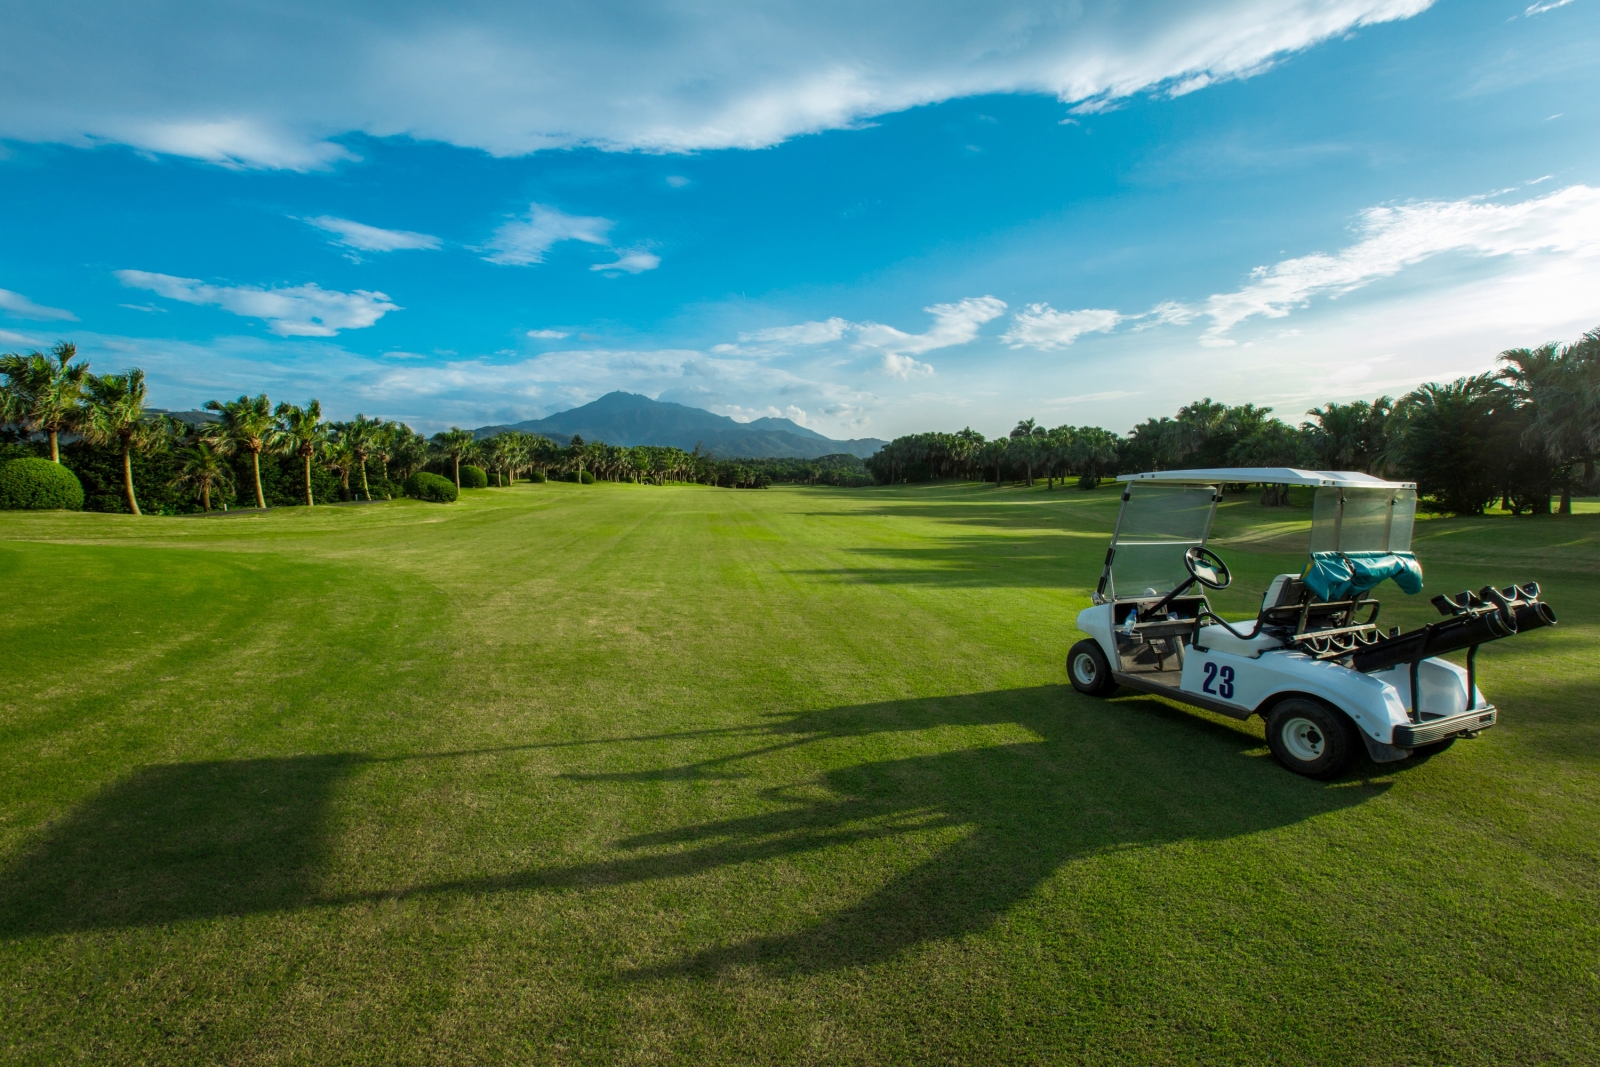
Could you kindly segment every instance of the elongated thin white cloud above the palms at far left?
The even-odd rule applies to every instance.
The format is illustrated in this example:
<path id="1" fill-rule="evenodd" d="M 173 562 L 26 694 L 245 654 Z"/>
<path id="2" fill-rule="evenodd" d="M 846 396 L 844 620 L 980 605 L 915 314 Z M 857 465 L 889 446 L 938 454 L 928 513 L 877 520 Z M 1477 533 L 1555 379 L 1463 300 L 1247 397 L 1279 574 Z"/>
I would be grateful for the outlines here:
<path id="1" fill-rule="evenodd" d="M 339 293 L 315 283 L 282 290 L 251 285 L 218 286 L 198 278 L 178 278 L 149 270 L 117 270 L 117 280 L 134 290 L 149 290 L 170 301 L 213 304 L 246 318 L 266 320 L 280 338 L 331 338 L 341 330 L 371 326 L 387 312 L 400 310 L 382 293 L 357 290 Z"/>

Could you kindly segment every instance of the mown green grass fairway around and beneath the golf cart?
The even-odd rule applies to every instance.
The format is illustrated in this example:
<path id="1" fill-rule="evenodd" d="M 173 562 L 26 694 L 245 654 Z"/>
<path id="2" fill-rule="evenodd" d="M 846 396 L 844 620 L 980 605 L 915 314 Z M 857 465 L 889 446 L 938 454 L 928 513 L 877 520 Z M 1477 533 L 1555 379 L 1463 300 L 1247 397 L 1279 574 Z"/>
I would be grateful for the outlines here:
<path id="1" fill-rule="evenodd" d="M 1323 784 L 1064 685 L 1114 507 L 0 515 L 0 1062 L 1600 1059 L 1600 514 L 1419 523 L 1562 624 Z M 1226 608 L 1304 520 L 1222 507 Z"/>

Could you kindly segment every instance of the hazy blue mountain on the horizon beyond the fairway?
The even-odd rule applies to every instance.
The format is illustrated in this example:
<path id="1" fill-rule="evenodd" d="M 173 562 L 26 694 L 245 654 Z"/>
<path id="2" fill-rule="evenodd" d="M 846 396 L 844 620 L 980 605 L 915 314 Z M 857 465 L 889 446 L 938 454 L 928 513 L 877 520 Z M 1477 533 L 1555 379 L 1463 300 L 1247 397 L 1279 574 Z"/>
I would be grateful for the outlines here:
<path id="1" fill-rule="evenodd" d="M 574 434 L 586 442 L 624 446 L 670 445 L 691 451 L 699 445 L 704 451 L 725 459 L 816 459 L 835 453 L 850 453 L 866 459 L 883 448 L 883 442 L 872 437 L 837 442 L 789 419 L 765 418 L 752 422 L 734 422 L 725 414 L 712 414 L 682 403 L 662 403 L 621 390 L 610 392 L 581 408 L 557 411 L 544 419 L 510 426 L 483 426 L 474 434 L 483 438 L 501 430 L 544 434 L 558 445 L 566 445 Z"/>

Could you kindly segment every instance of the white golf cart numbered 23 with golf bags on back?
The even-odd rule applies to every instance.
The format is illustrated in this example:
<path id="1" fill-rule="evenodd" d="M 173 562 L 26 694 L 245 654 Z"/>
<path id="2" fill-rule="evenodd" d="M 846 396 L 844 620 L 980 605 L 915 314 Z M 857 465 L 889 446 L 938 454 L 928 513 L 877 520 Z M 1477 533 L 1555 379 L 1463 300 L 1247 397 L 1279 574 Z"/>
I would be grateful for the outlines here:
<path id="1" fill-rule="evenodd" d="M 1363 744 L 1386 763 L 1475 737 L 1496 720 L 1477 688 L 1478 645 L 1555 624 L 1528 582 L 1434 597 L 1445 619 L 1379 630 L 1368 590 L 1384 579 L 1406 593 L 1422 589 L 1410 482 L 1288 467 L 1118 482 L 1122 510 L 1094 605 L 1078 614 L 1090 640 L 1067 654 L 1072 685 L 1091 696 L 1125 686 L 1235 718 L 1261 715 L 1272 755 L 1299 774 L 1336 777 Z M 1226 483 L 1315 488 L 1306 569 L 1274 577 L 1250 621 L 1227 622 L 1205 598 L 1205 589 L 1232 581 L 1206 549 Z M 1466 669 L 1438 657 L 1462 648 Z"/>

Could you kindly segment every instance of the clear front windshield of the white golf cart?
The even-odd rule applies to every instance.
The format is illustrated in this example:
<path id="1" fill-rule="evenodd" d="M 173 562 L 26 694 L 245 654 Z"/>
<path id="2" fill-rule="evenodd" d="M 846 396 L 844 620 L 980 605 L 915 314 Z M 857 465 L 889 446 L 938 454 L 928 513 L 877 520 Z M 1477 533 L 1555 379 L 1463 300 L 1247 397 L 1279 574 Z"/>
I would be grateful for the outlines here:
<path id="1" fill-rule="evenodd" d="M 1210 485 L 1128 486 L 1107 555 L 1107 597 L 1160 597 L 1189 579 L 1184 552 L 1205 545 L 1216 509 Z"/>

